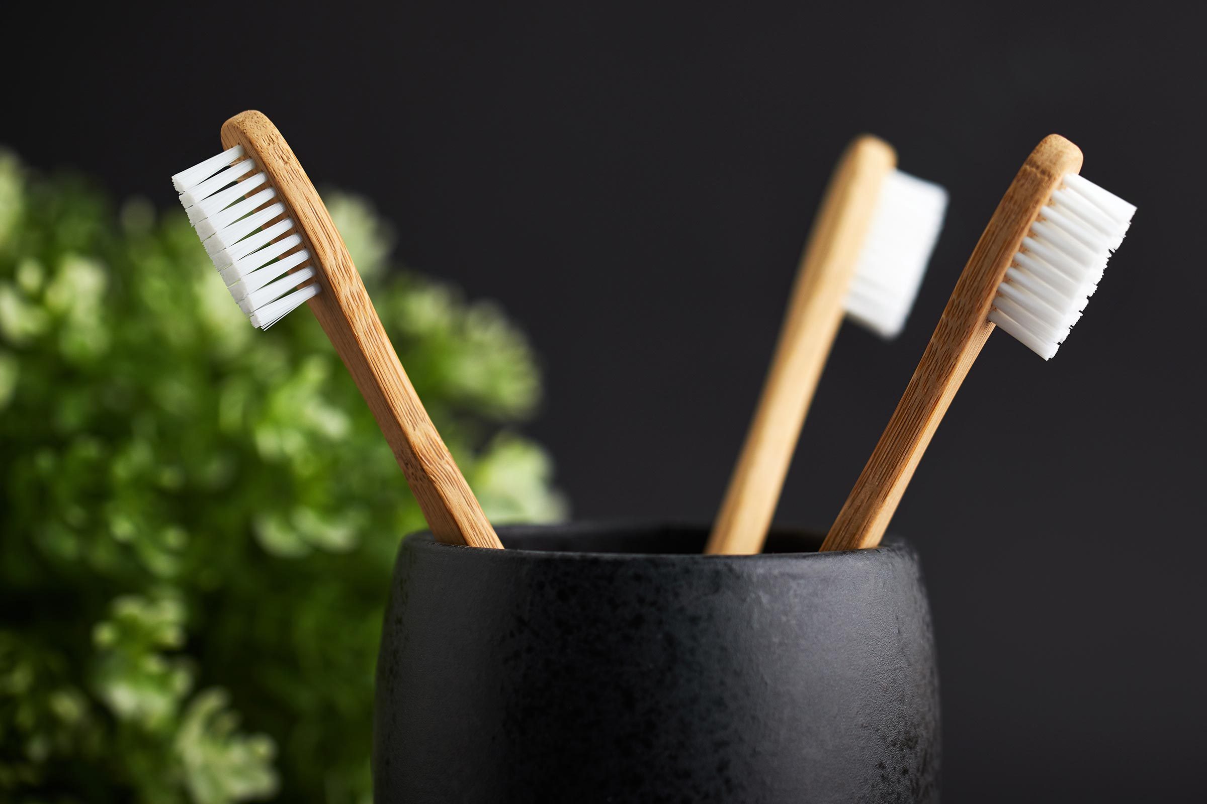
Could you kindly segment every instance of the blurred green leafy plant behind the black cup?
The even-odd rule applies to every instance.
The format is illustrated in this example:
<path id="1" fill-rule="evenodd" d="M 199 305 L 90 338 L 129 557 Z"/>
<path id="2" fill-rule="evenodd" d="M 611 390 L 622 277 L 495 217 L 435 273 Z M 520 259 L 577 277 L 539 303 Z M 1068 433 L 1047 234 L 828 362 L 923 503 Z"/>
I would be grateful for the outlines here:
<path id="1" fill-rule="evenodd" d="M 373 210 L 328 195 L 486 512 L 560 517 L 511 429 L 524 338 L 386 270 Z M 369 799 L 381 608 L 424 522 L 305 311 L 253 330 L 181 212 L 0 152 L 0 799 Z"/>

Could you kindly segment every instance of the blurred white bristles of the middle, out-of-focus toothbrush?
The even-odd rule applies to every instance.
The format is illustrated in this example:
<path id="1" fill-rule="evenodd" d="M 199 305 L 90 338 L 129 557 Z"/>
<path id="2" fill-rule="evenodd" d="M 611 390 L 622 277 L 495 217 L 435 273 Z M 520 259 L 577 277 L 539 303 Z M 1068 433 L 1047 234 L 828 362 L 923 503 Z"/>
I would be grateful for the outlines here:
<path id="1" fill-rule="evenodd" d="M 885 177 L 855 278 L 847 315 L 882 338 L 896 338 L 926 274 L 947 209 L 947 192 L 893 170 Z"/>

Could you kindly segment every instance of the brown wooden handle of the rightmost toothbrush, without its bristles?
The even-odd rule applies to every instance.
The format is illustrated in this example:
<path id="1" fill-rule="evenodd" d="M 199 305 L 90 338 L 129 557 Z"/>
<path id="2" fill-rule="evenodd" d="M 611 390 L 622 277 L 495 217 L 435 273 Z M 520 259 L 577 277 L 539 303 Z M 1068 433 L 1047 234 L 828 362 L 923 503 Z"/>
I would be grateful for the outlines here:
<path id="1" fill-rule="evenodd" d="M 880 544 L 934 430 L 993 331 L 986 316 L 1014 254 L 1053 190 L 1066 174 L 1080 168 L 1081 152 L 1056 134 L 1031 152 L 976 241 L 939 325 L 822 550 Z"/>

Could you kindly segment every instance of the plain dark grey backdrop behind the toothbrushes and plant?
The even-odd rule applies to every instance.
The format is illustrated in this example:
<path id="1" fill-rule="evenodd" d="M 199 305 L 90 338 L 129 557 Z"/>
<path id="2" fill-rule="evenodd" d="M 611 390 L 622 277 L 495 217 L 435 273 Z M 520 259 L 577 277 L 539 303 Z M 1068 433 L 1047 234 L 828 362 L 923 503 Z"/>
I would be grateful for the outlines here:
<path id="1" fill-rule="evenodd" d="M 410 265 L 524 324 L 577 516 L 706 520 L 827 174 L 879 134 L 952 205 L 904 335 L 839 335 L 779 512 L 826 528 L 1014 171 L 1068 136 L 1131 234 L 1051 363 L 991 339 L 894 521 L 947 799 L 1202 800 L 1203 16 L 655 5 L 43 4 L 8 27 L 0 141 L 170 205 L 267 112 Z"/>

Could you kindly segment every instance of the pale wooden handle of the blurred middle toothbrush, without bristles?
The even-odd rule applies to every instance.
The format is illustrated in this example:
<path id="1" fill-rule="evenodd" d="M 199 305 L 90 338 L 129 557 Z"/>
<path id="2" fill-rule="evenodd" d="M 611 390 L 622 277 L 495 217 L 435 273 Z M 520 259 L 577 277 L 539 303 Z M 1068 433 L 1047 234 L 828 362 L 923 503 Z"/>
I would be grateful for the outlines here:
<path id="1" fill-rule="evenodd" d="M 757 553 L 780 500 L 809 404 L 842 323 L 871 215 L 897 154 L 873 136 L 852 142 L 822 200 L 780 328 L 771 368 L 707 553 Z"/>

